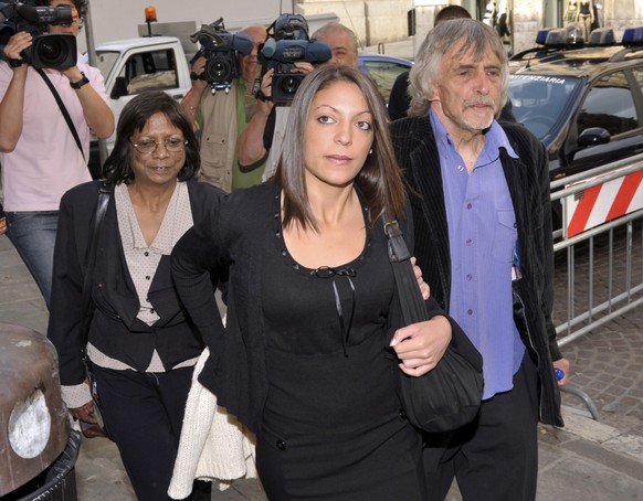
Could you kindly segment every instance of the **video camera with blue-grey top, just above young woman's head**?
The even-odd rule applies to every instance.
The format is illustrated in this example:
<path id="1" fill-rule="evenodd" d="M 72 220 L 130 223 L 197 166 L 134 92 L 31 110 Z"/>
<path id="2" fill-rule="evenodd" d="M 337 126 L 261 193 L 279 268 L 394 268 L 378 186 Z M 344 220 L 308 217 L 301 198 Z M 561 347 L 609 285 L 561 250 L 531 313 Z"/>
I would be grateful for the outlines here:
<path id="1" fill-rule="evenodd" d="M 272 100 L 276 106 L 292 103 L 305 75 L 295 72 L 298 61 L 324 63 L 333 56 L 320 40 L 308 38 L 308 23 L 303 15 L 283 14 L 273 24 L 274 35 L 264 43 L 261 61 L 264 71 L 274 68 Z M 271 26 L 272 28 L 272 26 Z"/>

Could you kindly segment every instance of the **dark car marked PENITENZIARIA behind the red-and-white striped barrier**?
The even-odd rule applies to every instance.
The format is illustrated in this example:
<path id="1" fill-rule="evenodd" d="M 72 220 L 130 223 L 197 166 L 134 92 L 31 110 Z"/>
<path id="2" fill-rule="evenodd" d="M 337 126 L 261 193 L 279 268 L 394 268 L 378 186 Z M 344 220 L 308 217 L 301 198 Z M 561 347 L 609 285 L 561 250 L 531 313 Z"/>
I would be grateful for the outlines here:
<path id="1" fill-rule="evenodd" d="M 582 49 L 558 40 L 510 61 L 514 115 L 545 143 L 551 180 L 643 152 L 643 28 L 620 44 L 604 39 Z"/>

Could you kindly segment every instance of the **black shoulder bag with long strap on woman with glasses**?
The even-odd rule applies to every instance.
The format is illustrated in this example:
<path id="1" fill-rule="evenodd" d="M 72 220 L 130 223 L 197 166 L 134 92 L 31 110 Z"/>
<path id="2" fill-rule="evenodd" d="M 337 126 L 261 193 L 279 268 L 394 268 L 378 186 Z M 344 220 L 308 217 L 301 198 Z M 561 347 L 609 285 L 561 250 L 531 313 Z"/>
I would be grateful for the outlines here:
<path id="1" fill-rule="evenodd" d="M 101 405 L 101 398 L 98 397 L 96 379 L 94 376 L 94 371 L 92 369 L 92 361 L 89 360 L 89 355 L 87 354 L 87 341 L 89 338 L 89 326 L 92 323 L 92 317 L 94 315 L 94 308 L 92 307 L 92 276 L 94 275 L 94 267 L 96 265 L 96 253 L 98 249 L 98 241 L 101 237 L 103 222 L 105 220 L 105 213 L 107 212 L 107 205 L 109 203 L 110 195 L 112 195 L 110 185 L 107 183 L 107 181 L 102 181 L 101 188 L 98 188 L 98 203 L 96 204 L 96 212 L 94 213 L 94 220 L 92 221 L 92 226 L 89 228 L 89 246 L 85 259 L 86 262 L 85 278 L 83 280 L 83 298 L 82 298 L 83 323 L 81 338 L 81 356 L 83 359 L 83 364 L 85 365 L 85 374 L 87 376 L 87 382 L 89 383 L 92 401 L 94 402 L 94 416 L 98 422 L 97 425 L 94 423 L 81 422 L 81 429 L 83 431 L 83 435 L 87 438 L 93 437 L 109 438 L 109 433 L 107 431 L 107 427 L 103 419 L 103 408 Z"/>

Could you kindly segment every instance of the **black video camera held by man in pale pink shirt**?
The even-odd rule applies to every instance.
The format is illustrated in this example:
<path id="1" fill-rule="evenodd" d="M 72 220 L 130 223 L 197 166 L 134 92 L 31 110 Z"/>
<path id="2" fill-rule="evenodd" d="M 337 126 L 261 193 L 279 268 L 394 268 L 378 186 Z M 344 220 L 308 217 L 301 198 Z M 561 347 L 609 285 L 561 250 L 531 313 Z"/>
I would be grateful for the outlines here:
<path id="1" fill-rule="evenodd" d="M 66 33 L 48 33 L 48 25 L 73 21 L 71 6 L 41 7 L 33 0 L 0 2 L 0 45 L 7 45 L 13 34 L 27 31 L 33 35 L 33 45 L 22 51 L 22 58 L 35 67 L 65 70 L 76 64 L 76 38 Z"/>

